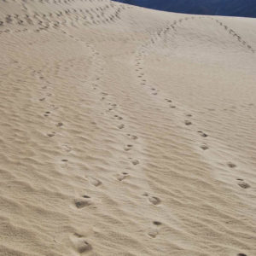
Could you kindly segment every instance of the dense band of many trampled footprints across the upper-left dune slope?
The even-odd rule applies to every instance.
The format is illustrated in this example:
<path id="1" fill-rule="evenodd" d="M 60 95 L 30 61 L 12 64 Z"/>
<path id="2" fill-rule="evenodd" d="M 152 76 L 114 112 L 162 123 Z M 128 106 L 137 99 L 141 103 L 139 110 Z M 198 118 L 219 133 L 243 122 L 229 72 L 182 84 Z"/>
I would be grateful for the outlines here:
<path id="1" fill-rule="evenodd" d="M 94 9 L 61 9 L 54 13 L 49 12 L 48 14 L 34 12 L 31 15 L 24 9 L 24 15 L 22 16 L 17 14 L 6 15 L 4 20 L 0 20 L 0 28 L 3 27 L 3 30 L 0 30 L 0 34 L 12 32 L 11 26 L 14 24 L 21 27 L 14 32 L 26 32 L 30 26 L 36 26 L 34 32 L 40 32 L 49 27 L 58 28 L 60 26 L 68 26 L 69 24 L 76 26 L 79 22 L 84 26 L 112 23 L 120 20 L 121 11 L 124 9 L 124 6 L 117 8 L 113 3 L 104 4 Z"/>

